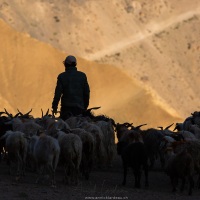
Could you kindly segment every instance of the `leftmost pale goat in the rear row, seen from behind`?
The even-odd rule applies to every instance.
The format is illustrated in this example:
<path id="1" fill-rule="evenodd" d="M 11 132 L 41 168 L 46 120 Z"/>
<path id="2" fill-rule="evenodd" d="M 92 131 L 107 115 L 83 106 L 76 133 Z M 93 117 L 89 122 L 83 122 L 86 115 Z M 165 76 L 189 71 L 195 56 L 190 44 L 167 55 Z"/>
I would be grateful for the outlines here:
<path id="1" fill-rule="evenodd" d="M 7 131 L 1 139 L 5 139 L 5 150 L 8 152 L 10 174 L 12 175 L 12 165 L 17 163 L 16 180 L 25 174 L 27 139 L 20 131 Z"/>

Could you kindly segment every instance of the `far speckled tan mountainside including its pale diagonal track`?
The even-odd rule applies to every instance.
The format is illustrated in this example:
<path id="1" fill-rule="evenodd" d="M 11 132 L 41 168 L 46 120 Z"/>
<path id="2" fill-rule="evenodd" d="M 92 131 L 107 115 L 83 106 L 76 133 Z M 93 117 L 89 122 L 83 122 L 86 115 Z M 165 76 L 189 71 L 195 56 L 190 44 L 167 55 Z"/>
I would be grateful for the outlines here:
<path id="1" fill-rule="evenodd" d="M 0 17 L 54 47 L 114 64 L 183 118 L 199 110 L 199 0 L 0 0 Z"/>

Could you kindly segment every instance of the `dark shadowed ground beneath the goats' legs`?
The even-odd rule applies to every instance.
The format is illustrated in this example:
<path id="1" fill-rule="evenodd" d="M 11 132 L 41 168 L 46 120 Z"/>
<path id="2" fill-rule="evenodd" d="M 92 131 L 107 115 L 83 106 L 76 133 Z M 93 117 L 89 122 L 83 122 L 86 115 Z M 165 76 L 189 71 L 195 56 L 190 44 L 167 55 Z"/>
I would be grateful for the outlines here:
<path id="1" fill-rule="evenodd" d="M 93 170 L 89 181 L 80 178 L 78 186 L 65 186 L 62 182 L 63 171 L 58 167 L 56 173 L 57 187 L 52 188 L 47 183 L 35 184 L 36 175 L 32 172 L 19 182 L 8 174 L 6 163 L 0 164 L 0 200 L 82 200 L 82 199 L 144 199 L 144 200 L 197 200 L 200 190 L 194 189 L 193 195 L 187 191 L 172 194 L 169 177 L 160 170 L 159 163 L 149 172 L 149 188 L 134 188 L 134 178 L 131 170 L 127 177 L 127 185 L 121 186 L 123 172 L 120 157 L 117 156 L 113 168 Z M 144 177 L 143 177 L 144 178 Z"/>

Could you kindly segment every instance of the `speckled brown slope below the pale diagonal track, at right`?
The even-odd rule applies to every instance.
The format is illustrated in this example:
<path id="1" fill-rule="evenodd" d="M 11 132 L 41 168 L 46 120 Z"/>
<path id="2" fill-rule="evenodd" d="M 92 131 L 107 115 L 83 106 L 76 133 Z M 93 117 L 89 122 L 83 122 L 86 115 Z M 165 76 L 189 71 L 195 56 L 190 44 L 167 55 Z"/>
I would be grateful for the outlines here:
<path id="1" fill-rule="evenodd" d="M 194 13 L 168 29 L 98 59 L 118 66 L 186 117 L 200 109 L 199 23 L 200 16 Z"/>

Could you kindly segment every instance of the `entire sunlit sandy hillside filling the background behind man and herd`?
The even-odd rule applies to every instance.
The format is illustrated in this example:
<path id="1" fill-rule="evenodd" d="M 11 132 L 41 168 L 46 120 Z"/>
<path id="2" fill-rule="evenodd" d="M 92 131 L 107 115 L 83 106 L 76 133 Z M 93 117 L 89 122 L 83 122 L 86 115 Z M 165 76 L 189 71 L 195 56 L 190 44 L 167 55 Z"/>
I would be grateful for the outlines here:
<path id="1" fill-rule="evenodd" d="M 99 112 L 135 123 L 157 124 L 160 119 L 168 124 L 174 121 L 171 116 L 184 119 L 200 109 L 199 8 L 198 0 L 0 1 L 0 18 L 25 33 L 13 32 L 1 22 L 17 35 L 11 40 L 5 31 L 1 38 L 4 43 L 8 38 L 1 70 L 12 66 L 4 70 L 9 79 L 2 81 L 15 93 L 1 95 L 1 101 L 10 109 L 19 108 L 22 100 L 25 110 L 33 105 L 50 107 L 56 76 L 63 70 L 61 61 L 70 53 L 79 57 L 80 69 L 88 73 L 91 105 L 101 105 Z M 25 71 L 27 66 L 30 70 Z M 20 71 L 13 72 L 18 67 Z M 26 80 L 29 85 L 27 93 L 17 94 L 10 86 L 8 80 L 17 87 L 13 74 L 18 73 L 21 83 L 26 85 Z M 32 82 L 37 84 L 27 89 Z M 38 85 L 43 96 L 38 97 Z"/>

